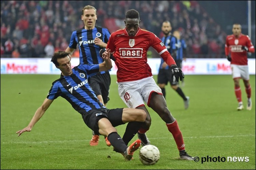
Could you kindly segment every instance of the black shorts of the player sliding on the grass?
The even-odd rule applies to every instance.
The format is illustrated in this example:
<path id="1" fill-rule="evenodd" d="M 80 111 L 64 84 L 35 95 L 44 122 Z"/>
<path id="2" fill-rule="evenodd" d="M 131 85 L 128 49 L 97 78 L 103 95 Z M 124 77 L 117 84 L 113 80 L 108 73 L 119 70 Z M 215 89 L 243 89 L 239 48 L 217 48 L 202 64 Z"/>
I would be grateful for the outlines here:
<path id="1" fill-rule="evenodd" d="M 94 109 L 85 114 L 82 114 L 82 118 L 85 124 L 93 130 L 96 134 L 99 134 L 99 125 L 98 121 L 101 118 L 108 118 L 113 127 L 116 127 L 121 124 L 125 124 L 122 121 L 124 108 L 115 108 L 115 109 Z"/>

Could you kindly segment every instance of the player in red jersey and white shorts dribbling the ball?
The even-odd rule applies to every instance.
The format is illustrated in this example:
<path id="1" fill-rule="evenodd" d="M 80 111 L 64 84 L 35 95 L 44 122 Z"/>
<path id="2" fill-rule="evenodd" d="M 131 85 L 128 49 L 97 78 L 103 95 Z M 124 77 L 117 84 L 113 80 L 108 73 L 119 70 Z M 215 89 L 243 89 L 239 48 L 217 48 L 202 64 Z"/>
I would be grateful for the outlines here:
<path id="1" fill-rule="evenodd" d="M 120 98 L 128 107 L 143 109 L 147 113 L 146 121 L 138 132 L 141 144 L 150 144 L 147 138 L 145 140 L 145 132 L 149 130 L 151 125 L 151 117 L 145 107 L 145 102 L 165 121 L 176 142 L 180 158 L 194 160 L 194 157 L 186 153 L 177 120 L 171 115 L 162 91 L 153 79 L 151 68 L 147 64 L 148 48 L 152 46 L 171 67 L 172 75 L 175 76 L 176 81 L 184 78 L 183 72 L 176 66 L 163 42 L 152 32 L 140 29 L 138 11 L 127 11 L 124 22 L 126 28 L 112 33 L 106 48 L 111 50 L 115 58 Z M 123 140 L 127 143 L 131 139 L 124 136 Z"/>

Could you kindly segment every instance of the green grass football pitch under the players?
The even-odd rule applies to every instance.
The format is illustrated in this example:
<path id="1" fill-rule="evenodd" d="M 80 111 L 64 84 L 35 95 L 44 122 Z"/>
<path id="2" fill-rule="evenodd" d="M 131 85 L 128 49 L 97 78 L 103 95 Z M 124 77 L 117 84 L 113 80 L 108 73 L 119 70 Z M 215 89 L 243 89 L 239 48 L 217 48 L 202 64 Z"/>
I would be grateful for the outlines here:
<path id="1" fill-rule="evenodd" d="M 156 80 L 156 75 L 154 78 Z M 168 84 L 166 100 L 182 131 L 186 151 L 199 162 L 179 160 L 175 141 L 165 123 L 150 108 L 152 124 L 147 136 L 160 151 L 153 166 L 139 160 L 125 161 L 103 136 L 99 145 L 89 146 L 91 130 L 79 113 L 59 97 L 35 124 L 31 132 L 17 137 L 47 96 L 51 83 L 59 75 L 1 74 L 1 169 L 255 169 L 255 75 L 251 75 L 251 111 L 246 110 L 246 93 L 242 81 L 245 109 L 237 111 L 231 75 L 185 75 L 184 103 Z M 126 107 L 117 92 L 116 76 L 111 75 L 108 108 Z M 117 126 L 122 137 L 126 125 Z M 132 139 L 137 139 L 137 135 Z M 130 142 L 130 143 L 131 143 Z M 129 143 L 129 144 L 130 144 Z M 201 157 L 225 157 L 226 162 L 204 162 Z M 227 157 L 249 157 L 249 162 L 227 162 Z M 210 159 L 209 159 L 210 161 Z"/>

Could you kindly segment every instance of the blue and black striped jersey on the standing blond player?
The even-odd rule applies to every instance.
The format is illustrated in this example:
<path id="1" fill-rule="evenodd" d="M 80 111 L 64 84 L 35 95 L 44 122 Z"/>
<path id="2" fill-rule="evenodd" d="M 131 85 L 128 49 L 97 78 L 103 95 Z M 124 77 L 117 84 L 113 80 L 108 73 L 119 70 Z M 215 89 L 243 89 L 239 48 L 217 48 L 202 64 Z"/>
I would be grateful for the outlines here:
<path id="1" fill-rule="evenodd" d="M 103 62 L 103 58 L 99 52 L 101 47 L 94 44 L 94 39 L 98 37 L 104 43 L 108 43 L 110 32 L 106 28 L 95 26 L 92 30 L 86 30 L 84 27 L 72 32 L 69 48 L 76 49 L 79 47 L 79 61 L 80 64 L 100 64 Z M 105 71 L 102 71 L 105 73 Z"/>

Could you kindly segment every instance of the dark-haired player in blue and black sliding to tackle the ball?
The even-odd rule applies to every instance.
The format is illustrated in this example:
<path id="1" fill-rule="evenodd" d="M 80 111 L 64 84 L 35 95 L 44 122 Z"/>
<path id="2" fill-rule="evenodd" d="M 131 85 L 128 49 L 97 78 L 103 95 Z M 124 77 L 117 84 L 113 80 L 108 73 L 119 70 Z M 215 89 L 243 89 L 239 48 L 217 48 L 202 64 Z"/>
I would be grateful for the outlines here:
<path id="1" fill-rule="evenodd" d="M 137 139 L 129 147 L 120 135 L 117 134 L 115 126 L 136 123 L 129 133 L 138 132 L 142 122 L 146 119 L 146 113 L 141 109 L 116 108 L 107 109 L 96 97 L 95 92 L 88 83 L 88 78 L 99 71 L 107 71 L 112 68 L 110 50 L 103 53 L 104 62 L 100 64 L 80 64 L 71 69 L 70 53 L 57 51 L 52 56 L 52 62 L 60 69 L 60 79 L 53 82 L 43 104 L 37 109 L 28 126 L 16 132 L 20 136 L 23 132 L 30 132 L 34 124 L 39 121 L 54 99 L 61 96 L 66 99 L 72 107 L 82 115 L 85 124 L 94 132 L 108 136 L 111 145 L 124 153 L 126 160 L 131 160 L 133 152 L 136 151 L 141 141 Z M 132 135 L 133 137 L 134 135 Z"/>

